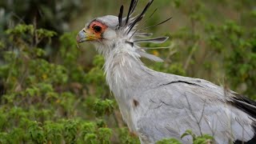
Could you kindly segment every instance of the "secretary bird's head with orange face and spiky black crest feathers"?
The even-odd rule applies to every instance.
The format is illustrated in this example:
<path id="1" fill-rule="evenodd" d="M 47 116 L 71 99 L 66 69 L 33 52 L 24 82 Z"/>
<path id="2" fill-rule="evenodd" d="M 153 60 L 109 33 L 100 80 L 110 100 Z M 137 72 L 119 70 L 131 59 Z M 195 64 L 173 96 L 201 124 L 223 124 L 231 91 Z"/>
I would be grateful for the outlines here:
<path id="1" fill-rule="evenodd" d="M 141 26 L 138 26 L 138 22 L 142 21 L 145 17 L 146 10 L 151 6 L 154 0 L 150 0 L 141 14 L 132 17 L 134 14 L 135 7 L 138 4 L 138 0 L 131 0 L 130 8 L 126 17 L 123 15 L 123 6 L 121 6 L 118 16 L 106 15 L 100 18 L 94 18 L 90 22 L 86 23 L 86 26 L 78 33 L 77 42 L 91 42 L 96 48 L 103 54 L 107 54 L 113 49 L 130 49 L 136 51 L 141 57 L 150 58 L 154 61 L 159 61 L 160 58 L 155 58 L 151 54 L 146 54 L 146 48 L 141 48 L 138 46 L 140 42 L 153 42 L 162 43 L 166 42 L 168 37 L 158 37 L 158 38 L 148 38 L 152 34 L 143 33 L 143 30 L 147 30 L 153 26 L 144 26 L 146 21 L 151 18 L 153 14 L 150 15 L 146 21 L 142 22 Z M 160 22 L 154 26 L 158 26 L 164 22 L 167 22 L 170 18 L 165 21 Z"/>

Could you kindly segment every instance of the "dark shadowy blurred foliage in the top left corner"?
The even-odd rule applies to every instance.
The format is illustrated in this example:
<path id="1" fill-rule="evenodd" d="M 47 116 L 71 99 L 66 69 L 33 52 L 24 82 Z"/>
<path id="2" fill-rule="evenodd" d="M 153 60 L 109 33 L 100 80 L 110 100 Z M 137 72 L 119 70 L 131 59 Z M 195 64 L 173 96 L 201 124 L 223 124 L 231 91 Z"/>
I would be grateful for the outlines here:
<path id="1" fill-rule="evenodd" d="M 0 18 L 0 32 L 10 24 L 37 22 L 39 27 L 63 32 L 67 30 L 68 22 L 78 15 L 82 9 L 81 0 L 60 0 L 41 2 L 26 0 L 26 2 L 14 0 L 12 2 L 2 1 Z M 45 34 L 45 33 L 44 33 Z"/>

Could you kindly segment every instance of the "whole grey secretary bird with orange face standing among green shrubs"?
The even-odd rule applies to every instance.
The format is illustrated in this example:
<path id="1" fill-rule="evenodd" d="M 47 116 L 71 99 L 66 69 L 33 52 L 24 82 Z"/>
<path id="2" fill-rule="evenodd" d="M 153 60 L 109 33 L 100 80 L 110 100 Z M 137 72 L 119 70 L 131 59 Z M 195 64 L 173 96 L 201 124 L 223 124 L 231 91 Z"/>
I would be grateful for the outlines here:
<path id="1" fill-rule="evenodd" d="M 131 0 L 126 17 L 121 6 L 118 16 L 94 18 L 77 36 L 78 43 L 91 42 L 104 56 L 106 82 L 130 131 L 138 134 L 141 143 L 162 138 L 192 143 L 189 136 L 181 138 L 186 130 L 210 134 L 220 144 L 256 143 L 256 102 L 206 80 L 165 74 L 142 63 L 142 57 L 156 62 L 162 59 L 147 54 L 140 42 L 162 43 L 167 39 L 146 39 L 152 35 L 142 33 L 152 27 L 143 27 L 148 19 L 138 26 L 152 2 L 132 17 L 138 0 Z"/>

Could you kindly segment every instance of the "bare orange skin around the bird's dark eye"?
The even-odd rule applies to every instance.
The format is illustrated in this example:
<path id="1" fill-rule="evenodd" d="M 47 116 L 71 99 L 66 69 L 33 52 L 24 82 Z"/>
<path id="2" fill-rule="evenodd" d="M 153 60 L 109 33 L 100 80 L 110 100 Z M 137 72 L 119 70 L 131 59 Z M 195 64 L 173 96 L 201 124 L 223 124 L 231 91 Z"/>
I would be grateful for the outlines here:
<path id="1" fill-rule="evenodd" d="M 104 25 L 102 22 L 94 21 L 91 22 L 88 26 L 86 33 L 91 37 L 91 39 L 98 39 L 101 40 L 102 33 L 107 29 L 107 26 Z"/>

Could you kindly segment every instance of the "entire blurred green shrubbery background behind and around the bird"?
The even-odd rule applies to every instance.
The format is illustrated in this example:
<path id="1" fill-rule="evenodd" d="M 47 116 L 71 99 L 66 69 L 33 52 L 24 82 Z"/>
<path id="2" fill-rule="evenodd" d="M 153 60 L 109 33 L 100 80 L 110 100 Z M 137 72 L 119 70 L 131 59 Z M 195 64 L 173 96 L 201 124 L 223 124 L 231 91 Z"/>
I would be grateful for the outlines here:
<path id="1" fill-rule="evenodd" d="M 147 0 L 138 2 L 140 13 Z M 105 82 L 104 59 L 78 49 L 86 22 L 118 15 L 127 0 L 8 0 L 0 2 L 0 143 L 138 143 Z M 165 62 L 146 66 L 203 78 L 256 99 L 256 2 L 155 0 L 148 32 L 169 36 Z"/>

